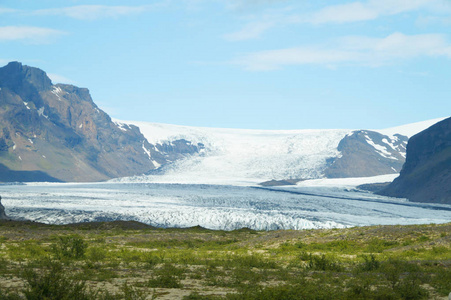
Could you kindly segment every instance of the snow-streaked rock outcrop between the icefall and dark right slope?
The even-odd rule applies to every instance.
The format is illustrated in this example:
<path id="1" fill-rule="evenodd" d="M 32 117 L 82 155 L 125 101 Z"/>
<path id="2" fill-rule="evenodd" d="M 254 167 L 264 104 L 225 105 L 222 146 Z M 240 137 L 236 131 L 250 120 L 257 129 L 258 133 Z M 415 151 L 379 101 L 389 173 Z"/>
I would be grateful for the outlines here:
<path id="1" fill-rule="evenodd" d="M 354 131 L 344 137 L 338 151 L 325 170 L 328 178 L 368 177 L 398 173 L 405 161 L 408 138 L 388 137 L 369 130 Z"/>

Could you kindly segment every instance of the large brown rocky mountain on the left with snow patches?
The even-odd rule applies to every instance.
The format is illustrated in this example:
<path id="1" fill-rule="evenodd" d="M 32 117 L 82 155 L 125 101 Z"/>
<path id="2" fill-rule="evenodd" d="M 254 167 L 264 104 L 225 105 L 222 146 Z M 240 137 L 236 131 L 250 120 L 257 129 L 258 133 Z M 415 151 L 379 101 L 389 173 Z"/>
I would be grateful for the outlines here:
<path id="1" fill-rule="evenodd" d="M 44 71 L 19 62 L 0 68 L 0 181 L 139 175 L 200 147 L 155 147 L 138 127 L 113 122 L 87 89 L 54 85 Z"/>

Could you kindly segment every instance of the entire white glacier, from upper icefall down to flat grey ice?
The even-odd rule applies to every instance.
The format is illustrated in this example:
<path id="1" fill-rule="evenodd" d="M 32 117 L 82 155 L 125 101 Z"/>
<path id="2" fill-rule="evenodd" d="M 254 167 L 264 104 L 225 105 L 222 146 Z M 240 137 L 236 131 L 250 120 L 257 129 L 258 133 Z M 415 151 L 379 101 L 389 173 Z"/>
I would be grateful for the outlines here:
<path id="1" fill-rule="evenodd" d="M 435 121 L 378 132 L 393 139 L 397 133 L 411 136 Z M 218 230 L 301 230 L 451 220 L 450 205 L 410 203 L 356 188 L 392 181 L 397 174 L 324 178 L 327 160 L 340 156 L 337 145 L 353 130 L 268 131 L 115 122 L 124 129 L 127 124 L 138 126 L 154 145 L 185 139 L 205 147 L 142 176 L 102 183 L 2 184 L 6 214 L 49 224 L 135 220 L 163 228 L 199 225 Z M 288 178 L 303 180 L 293 186 L 258 185 Z"/>

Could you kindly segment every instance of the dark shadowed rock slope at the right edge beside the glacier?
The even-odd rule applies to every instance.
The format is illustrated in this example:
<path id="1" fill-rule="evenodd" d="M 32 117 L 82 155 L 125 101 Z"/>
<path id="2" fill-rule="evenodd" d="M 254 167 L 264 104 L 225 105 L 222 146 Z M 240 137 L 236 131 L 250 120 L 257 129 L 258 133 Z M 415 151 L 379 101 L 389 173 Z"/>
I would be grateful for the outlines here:
<path id="1" fill-rule="evenodd" d="M 451 204 L 451 118 L 410 138 L 400 176 L 380 193 Z"/>

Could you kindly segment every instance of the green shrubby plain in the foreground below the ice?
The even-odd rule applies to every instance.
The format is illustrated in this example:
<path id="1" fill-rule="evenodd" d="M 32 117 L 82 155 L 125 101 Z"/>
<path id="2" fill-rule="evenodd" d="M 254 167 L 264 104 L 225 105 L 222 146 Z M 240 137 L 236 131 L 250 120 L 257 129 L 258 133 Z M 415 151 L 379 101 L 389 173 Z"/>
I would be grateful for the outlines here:
<path id="1" fill-rule="evenodd" d="M 0 241 L 0 299 L 446 299 L 451 291 L 451 224 L 226 232 L 3 221 Z"/>

